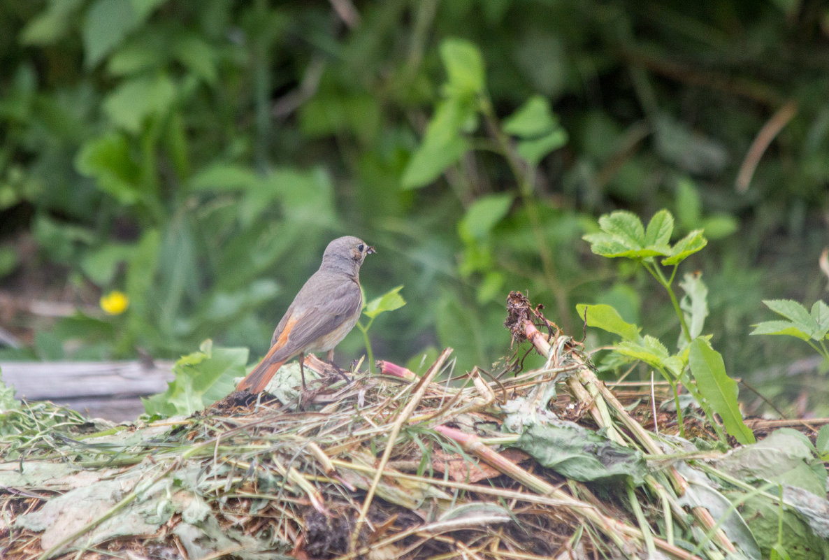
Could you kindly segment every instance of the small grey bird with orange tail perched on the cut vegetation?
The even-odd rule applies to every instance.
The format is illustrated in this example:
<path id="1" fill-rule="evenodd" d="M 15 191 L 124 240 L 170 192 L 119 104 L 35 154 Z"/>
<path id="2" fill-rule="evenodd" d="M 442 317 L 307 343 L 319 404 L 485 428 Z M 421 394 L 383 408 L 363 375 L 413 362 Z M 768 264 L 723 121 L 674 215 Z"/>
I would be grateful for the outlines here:
<path id="1" fill-rule="evenodd" d="M 270 349 L 256 367 L 236 386 L 237 391 L 264 391 L 282 364 L 299 356 L 303 390 L 305 353 L 327 352 L 351 332 L 362 313 L 360 266 L 376 253 L 359 237 L 337 237 L 328 243 L 319 269 L 308 278 L 274 330 Z"/>

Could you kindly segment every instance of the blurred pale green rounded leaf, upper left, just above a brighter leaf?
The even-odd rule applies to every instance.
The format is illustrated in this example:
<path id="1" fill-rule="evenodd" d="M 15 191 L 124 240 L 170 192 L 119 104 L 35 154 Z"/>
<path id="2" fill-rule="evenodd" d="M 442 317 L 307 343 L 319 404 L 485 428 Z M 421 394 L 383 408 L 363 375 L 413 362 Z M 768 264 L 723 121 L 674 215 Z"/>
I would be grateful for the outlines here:
<path id="1" fill-rule="evenodd" d="M 167 114 L 176 99 L 176 86 L 167 75 L 138 76 L 124 81 L 104 100 L 112 122 L 138 134 L 144 119 Z"/>

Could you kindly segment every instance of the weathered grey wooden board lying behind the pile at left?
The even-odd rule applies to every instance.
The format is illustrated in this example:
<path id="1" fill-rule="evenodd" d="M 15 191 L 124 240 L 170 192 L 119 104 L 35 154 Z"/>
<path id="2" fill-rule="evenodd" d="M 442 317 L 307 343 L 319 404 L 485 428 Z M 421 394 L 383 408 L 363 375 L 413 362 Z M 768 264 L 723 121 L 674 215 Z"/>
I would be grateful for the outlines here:
<path id="1" fill-rule="evenodd" d="M 0 375 L 17 398 L 129 421 L 143 412 L 139 397 L 167 389 L 172 362 L 2 362 Z"/>

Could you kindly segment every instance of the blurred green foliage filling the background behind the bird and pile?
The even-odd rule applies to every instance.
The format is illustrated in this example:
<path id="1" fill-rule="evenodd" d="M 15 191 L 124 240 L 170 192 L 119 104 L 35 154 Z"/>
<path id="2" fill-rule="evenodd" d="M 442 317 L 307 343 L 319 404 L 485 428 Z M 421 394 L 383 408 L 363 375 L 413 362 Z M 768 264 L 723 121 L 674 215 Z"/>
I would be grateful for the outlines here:
<path id="1" fill-rule="evenodd" d="M 378 319 L 376 355 L 487 366 L 509 290 L 575 336 L 577 301 L 676 335 L 642 270 L 581 241 L 602 212 L 667 207 L 676 238 L 711 240 L 690 261 L 726 367 L 767 368 L 797 354 L 745 336 L 760 300 L 825 296 L 827 29 L 808 0 L 7 0 L 2 289 L 33 269 L 80 303 L 129 296 L 39 334 L 41 357 L 205 338 L 254 357 L 354 234 L 378 247 L 367 297 L 410 302 Z"/>

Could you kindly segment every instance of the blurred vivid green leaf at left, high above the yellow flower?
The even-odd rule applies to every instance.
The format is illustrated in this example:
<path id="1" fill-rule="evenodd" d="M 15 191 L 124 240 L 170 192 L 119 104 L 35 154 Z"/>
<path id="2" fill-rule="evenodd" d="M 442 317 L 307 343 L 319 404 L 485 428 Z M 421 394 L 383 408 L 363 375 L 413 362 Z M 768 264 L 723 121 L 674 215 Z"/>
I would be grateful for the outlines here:
<path id="1" fill-rule="evenodd" d="M 133 204 L 142 197 L 138 165 L 123 134 L 111 132 L 90 139 L 75 157 L 75 168 L 81 175 L 97 179 L 96 186 L 122 204 Z"/>

